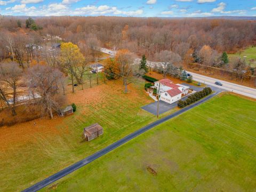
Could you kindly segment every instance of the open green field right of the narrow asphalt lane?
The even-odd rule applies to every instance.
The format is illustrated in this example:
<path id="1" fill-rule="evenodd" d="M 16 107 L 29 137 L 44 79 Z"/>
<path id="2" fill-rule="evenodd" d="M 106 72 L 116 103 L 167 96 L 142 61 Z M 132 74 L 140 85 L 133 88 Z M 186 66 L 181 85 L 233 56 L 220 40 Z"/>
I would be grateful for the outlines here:
<path id="1" fill-rule="evenodd" d="M 43 191 L 256 191 L 255 117 L 255 101 L 223 94 Z"/>

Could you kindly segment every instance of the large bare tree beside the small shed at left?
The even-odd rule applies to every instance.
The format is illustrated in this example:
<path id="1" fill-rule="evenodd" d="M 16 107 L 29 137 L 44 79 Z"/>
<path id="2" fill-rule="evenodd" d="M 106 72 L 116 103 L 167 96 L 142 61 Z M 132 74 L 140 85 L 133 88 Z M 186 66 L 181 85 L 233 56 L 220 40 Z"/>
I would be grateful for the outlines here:
<path id="1" fill-rule="evenodd" d="M 35 103 L 42 115 L 49 114 L 53 118 L 65 102 L 65 97 L 58 93 L 63 74 L 49 66 L 36 65 L 28 69 L 28 87 L 31 93 L 39 95 Z"/>

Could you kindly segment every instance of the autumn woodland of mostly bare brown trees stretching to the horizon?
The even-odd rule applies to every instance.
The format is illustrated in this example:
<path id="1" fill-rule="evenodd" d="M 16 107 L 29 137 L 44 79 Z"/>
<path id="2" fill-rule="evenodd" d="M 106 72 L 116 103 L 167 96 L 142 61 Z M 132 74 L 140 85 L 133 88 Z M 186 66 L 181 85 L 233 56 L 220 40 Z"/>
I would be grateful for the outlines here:
<path id="1" fill-rule="evenodd" d="M 105 58 L 105 75 L 122 77 L 125 92 L 129 76 L 145 75 L 151 69 L 163 77 L 179 77 L 183 68 L 203 69 L 205 74 L 210 71 L 256 86 L 255 68 L 244 58 L 227 56 L 254 46 L 255 31 L 256 22 L 246 20 L 0 17 L 1 102 L 16 115 L 17 90 L 23 87 L 36 101 L 29 105 L 36 104 L 42 114 L 53 118 L 65 103 L 67 77 L 73 92 L 76 83 L 83 89 L 85 79 L 91 86 L 88 65 L 102 57 L 101 47 L 116 52 L 115 58 Z M 134 59 L 141 56 L 141 65 L 134 66 Z M 153 66 L 146 58 L 161 65 Z"/>

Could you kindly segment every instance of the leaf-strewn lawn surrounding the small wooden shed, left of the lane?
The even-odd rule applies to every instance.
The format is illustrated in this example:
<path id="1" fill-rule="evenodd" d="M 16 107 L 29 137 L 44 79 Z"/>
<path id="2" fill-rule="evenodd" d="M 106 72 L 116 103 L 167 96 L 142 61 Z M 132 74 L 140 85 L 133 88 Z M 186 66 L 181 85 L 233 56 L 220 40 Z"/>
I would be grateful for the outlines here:
<path id="1" fill-rule="evenodd" d="M 77 105 L 74 115 L 0 127 L 0 191 L 25 189 L 155 121 L 140 108 L 153 102 L 144 84 L 142 80 L 129 84 L 127 94 L 122 80 L 94 83 L 85 90 L 76 87 L 75 94 L 70 86 L 67 97 Z M 99 123 L 104 134 L 84 142 L 83 128 L 93 123 Z"/>

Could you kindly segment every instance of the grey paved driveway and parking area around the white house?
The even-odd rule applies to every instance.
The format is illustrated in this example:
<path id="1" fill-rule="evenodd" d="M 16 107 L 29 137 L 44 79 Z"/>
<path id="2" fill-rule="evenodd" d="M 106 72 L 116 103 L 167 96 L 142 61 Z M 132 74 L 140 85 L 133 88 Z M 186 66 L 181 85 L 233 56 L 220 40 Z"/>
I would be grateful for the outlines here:
<path id="1" fill-rule="evenodd" d="M 182 83 L 182 85 L 186 85 L 189 86 L 191 89 L 193 89 L 194 91 L 198 92 L 204 89 L 204 87 L 199 87 L 199 86 L 194 86 L 194 85 L 189 85 L 187 83 Z M 214 87 L 214 86 L 210 86 L 211 89 L 216 92 L 216 93 L 220 93 L 221 91 L 224 91 L 223 89 L 219 88 L 219 87 Z M 182 100 L 185 100 L 188 96 L 183 97 Z M 177 102 L 174 102 L 172 104 L 169 104 L 167 102 L 164 101 L 159 101 L 159 114 L 163 114 L 171 109 L 173 109 L 174 107 L 177 106 Z M 141 107 L 142 109 L 148 111 L 149 113 L 153 114 L 153 115 L 157 115 L 157 101 L 150 103 L 149 105 L 143 106 Z"/>

